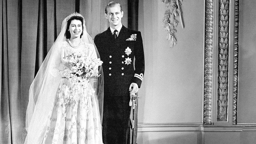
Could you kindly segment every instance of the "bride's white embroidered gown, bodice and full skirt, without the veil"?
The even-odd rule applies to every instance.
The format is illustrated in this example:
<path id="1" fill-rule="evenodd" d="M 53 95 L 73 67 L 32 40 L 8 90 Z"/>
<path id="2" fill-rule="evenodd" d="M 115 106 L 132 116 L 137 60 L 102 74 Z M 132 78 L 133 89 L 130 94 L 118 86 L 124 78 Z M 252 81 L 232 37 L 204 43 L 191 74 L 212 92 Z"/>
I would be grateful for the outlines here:
<path id="1" fill-rule="evenodd" d="M 78 48 L 72 48 L 64 42 L 62 51 L 66 54 L 83 52 L 88 55 L 93 45 L 82 43 Z M 98 143 L 102 141 L 99 109 L 94 90 L 90 83 L 86 87 L 71 88 L 60 82 L 52 110 L 48 115 L 42 143 Z"/>

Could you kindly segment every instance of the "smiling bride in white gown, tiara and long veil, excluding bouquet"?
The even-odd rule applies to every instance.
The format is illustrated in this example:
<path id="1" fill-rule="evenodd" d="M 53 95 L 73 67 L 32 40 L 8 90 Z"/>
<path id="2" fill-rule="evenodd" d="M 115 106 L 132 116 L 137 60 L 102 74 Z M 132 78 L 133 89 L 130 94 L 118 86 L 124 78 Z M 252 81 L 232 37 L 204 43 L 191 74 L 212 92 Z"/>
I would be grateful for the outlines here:
<path id="1" fill-rule="evenodd" d="M 99 58 L 81 14 L 62 22 L 61 32 L 48 52 L 29 90 L 25 143 L 102 143 L 103 73 L 74 85 L 68 77 L 72 58 Z M 74 65 L 73 65 L 74 66 Z M 96 77 L 95 77 L 96 76 Z"/>

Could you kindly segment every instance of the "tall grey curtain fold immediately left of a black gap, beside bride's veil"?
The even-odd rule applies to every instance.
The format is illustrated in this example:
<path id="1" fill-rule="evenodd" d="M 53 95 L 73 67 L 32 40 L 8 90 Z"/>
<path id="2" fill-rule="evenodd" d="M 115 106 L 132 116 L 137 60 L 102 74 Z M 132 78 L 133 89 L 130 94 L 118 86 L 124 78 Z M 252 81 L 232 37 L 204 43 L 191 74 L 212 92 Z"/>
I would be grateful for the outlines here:
<path id="1" fill-rule="evenodd" d="M 36 36 L 37 36 L 37 25 L 38 25 L 38 0 L 26 0 L 22 1 L 22 41 L 21 44 L 21 73 L 20 73 L 20 89 L 21 92 L 16 95 L 20 98 L 20 105 L 22 107 L 22 119 L 19 121 L 23 125 L 22 140 L 17 143 L 24 143 L 26 137 L 25 130 L 25 116 L 28 105 L 28 93 L 29 87 L 34 79 L 35 74 L 35 57 L 36 57 Z M 10 19 L 16 19 L 15 16 L 8 17 Z M 11 49 L 11 48 L 10 48 Z M 16 137 L 18 138 L 18 137 Z"/>

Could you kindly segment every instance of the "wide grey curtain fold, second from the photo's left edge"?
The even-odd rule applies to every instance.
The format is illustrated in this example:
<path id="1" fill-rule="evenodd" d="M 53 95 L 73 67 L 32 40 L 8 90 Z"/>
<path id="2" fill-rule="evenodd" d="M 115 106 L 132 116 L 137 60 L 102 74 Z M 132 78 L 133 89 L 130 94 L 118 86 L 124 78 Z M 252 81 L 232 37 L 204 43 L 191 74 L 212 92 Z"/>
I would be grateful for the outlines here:
<path id="1" fill-rule="evenodd" d="M 22 17 L 21 1 L 7 1 L 7 43 L 8 43 L 8 75 L 9 75 L 9 107 L 12 143 L 20 143 L 25 136 L 22 111 L 23 99 L 20 95 Z M 12 18 L 10 18 L 12 17 Z M 18 95 L 18 97 L 17 97 Z"/>

